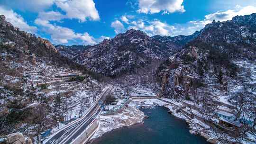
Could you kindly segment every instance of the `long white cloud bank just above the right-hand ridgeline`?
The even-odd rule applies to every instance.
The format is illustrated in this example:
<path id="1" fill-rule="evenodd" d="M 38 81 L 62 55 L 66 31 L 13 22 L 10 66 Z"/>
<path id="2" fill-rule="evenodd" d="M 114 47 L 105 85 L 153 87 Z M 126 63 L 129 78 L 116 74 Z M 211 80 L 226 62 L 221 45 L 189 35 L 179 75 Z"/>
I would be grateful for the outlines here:
<path id="1" fill-rule="evenodd" d="M 211 23 L 213 19 L 216 21 L 231 20 L 233 17 L 239 15 L 249 15 L 256 12 L 256 7 L 238 7 L 229 9 L 227 11 L 218 11 L 206 15 L 203 20 L 189 21 L 183 24 L 169 25 L 160 20 L 147 20 L 137 19 L 131 21 L 128 25 L 128 29 L 134 28 L 145 31 L 149 36 L 161 35 L 161 36 L 177 36 L 177 35 L 191 35 L 196 30 L 202 29 L 206 24 Z"/>

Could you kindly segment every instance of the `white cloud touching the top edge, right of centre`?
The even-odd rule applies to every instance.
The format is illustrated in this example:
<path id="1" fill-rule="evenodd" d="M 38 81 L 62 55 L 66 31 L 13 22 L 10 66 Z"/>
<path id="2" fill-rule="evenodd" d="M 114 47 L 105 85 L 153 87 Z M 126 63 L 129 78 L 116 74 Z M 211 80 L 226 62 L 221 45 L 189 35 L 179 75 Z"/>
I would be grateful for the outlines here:
<path id="1" fill-rule="evenodd" d="M 176 11 L 185 12 L 183 0 L 139 0 L 139 13 L 173 13 Z"/>

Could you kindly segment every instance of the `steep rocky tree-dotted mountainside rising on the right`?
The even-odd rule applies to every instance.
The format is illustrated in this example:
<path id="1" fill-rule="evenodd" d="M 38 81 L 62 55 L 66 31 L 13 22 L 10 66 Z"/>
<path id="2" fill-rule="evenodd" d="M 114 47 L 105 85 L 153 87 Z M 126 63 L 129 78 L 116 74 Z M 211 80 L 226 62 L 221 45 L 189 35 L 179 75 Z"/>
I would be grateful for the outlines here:
<path id="1" fill-rule="evenodd" d="M 206 88 L 230 94 L 236 85 L 244 84 L 241 79 L 254 81 L 255 19 L 256 14 L 252 14 L 206 25 L 181 52 L 160 65 L 157 71 L 157 78 L 162 81 L 159 96 L 185 98 L 192 96 L 194 90 Z M 243 72 L 250 76 L 242 75 Z"/>

